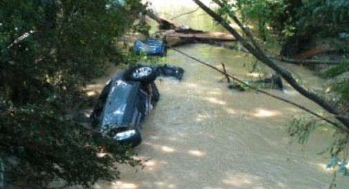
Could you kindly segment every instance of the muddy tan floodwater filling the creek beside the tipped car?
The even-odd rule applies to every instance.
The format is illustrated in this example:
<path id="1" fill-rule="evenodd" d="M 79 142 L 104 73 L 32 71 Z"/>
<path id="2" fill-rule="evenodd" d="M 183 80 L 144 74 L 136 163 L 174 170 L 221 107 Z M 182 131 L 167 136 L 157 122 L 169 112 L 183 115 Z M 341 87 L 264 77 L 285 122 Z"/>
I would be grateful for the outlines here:
<path id="1" fill-rule="evenodd" d="M 250 79 L 252 58 L 245 53 L 205 44 L 178 49 L 214 66 L 225 62 L 229 73 Z M 169 50 L 166 62 L 182 66 L 185 75 L 181 82 L 156 81 L 160 101 L 143 124 L 143 143 L 135 148 L 141 159 L 149 159 L 146 167 L 121 166 L 119 181 L 95 188 L 328 188 L 329 159 L 317 153 L 332 141 L 329 130 L 315 131 L 305 146 L 290 145 L 287 125 L 304 112 L 261 93 L 229 90 L 223 75 L 175 51 Z M 303 84 L 320 86 L 311 71 L 289 69 L 306 75 Z M 270 92 L 321 111 L 287 85 L 285 91 Z M 348 187 L 349 179 L 338 175 L 337 188 Z"/>

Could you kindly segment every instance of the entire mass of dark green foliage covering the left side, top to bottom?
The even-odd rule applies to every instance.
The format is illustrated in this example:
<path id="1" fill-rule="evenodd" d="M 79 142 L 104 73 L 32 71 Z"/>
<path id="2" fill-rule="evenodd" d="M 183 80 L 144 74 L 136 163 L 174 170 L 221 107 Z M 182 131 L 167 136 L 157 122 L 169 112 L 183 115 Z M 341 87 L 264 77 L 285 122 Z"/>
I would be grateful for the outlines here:
<path id="1" fill-rule="evenodd" d="M 140 1 L 1 0 L 0 159 L 7 183 L 50 181 L 90 187 L 111 181 L 115 163 L 140 165 L 73 117 L 88 100 L 82 87 L 109 64 L 135 60 L 117 45 L 144 6 Z M 145 28 L 145 29 L 144 29 Z M 105 156 L 98 153 L 109 152 Z"/>

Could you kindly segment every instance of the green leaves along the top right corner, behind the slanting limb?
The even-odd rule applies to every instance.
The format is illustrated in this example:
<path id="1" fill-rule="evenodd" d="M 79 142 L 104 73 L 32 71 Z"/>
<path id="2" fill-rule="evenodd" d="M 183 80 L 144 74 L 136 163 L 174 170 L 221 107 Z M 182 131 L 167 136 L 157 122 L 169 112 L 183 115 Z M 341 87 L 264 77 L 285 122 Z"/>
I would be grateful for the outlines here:
<path id="1" fill-rule="evenodd" d="M 221 1 L 238 10 L 245 24 L 255 24 L 261 37 L 276 33 L 285 42 L 292 36 L 338 36 L 349 32 L 346 0 L 238 0 Z M 265 36 L 266 35 L 266 36 Z"/>

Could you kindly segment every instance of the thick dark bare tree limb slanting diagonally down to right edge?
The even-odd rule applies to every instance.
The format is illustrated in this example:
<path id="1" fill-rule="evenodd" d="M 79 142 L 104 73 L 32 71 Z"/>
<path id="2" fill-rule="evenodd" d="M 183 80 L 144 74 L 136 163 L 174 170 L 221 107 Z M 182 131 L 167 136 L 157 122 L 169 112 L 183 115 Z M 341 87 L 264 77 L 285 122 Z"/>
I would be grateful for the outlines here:
<path id="1" fill-rule="evenodd" d="M 312 100 L 313 102 L 317 103 L 317 105 L 321 106 L 323 109 L 328 111 L 330 114 L 334 115 L 337 118 L 337 120 L 339 120 L 339 122 L 341 122 L 343 124 L 343 130 L 345 130 L 346 132 L 349 132 L 349 119 L 343 118 L 343 115 L 341 114 L 341 112 L 338 109 L 336 109 L 335 107 L 330 105 L 330 103 L 328 103 L 323 98 L 317 96 L 316 93 L 312 93 L 311 91 L 308 91 L 308 89 L 305 89 L 304 87 L 302 87 L 301 84 L 299 84 L 293 78 L 292 74 L 289 71 L 287 71 L 287 69 L 281 67 L 279 64 L 276 64 L 276 62 L 271 60 L 270 57 L 267 57 L 267 55 L 265 55 L 265 53 L 263 53 L 263 51 L 261 51 L 261 48 L 258 47 L 258 44 L 256 44 L 254 37 L 250 33 L 248 33 L 248 31 L 246 33 L 245 29 L 241 28 L 246 35 L 249 35 L 249 39 L 251 40 L 252 44 L 250 44 L 245 39 L 243 39 L 243 37 L 234 28 L 232 28 L 232 26 L 230 26 L 229 23 L 227 21 L 225 21 L 225 19 L 223 19 L 223 17 L 220 17 L 220 15 L 218 15 L 216 12 L 211 10 L 211 8 L 208 8 L 207 6 L 205 6 L 205 4 L 202 3 L 200 0 L 193 0 L 193 1 L 198 6 L 200 6 L 200 8 L 202 8 L 202 10 L 207 12 L 208 15 L 210 15 L 219 24 L 221 24 L 225 29 L 227 29 L 229 31 L 229 33 L 232 33 L 232 35 L 234 35 L 234 37 L 236 37 L 238 42 L 240 42 L 245 48 L 247 48 L 247 50 L 250 53 L 252 53 L 258 60 L 263 62 L 265 65 L 269 66 L 274 71 L 276 71 L 276 73 L 279 73 L 281 75 L 281 77 L 287 83 L 289 83 L 296 91 L 301 93 L 301 95 L 303 95 L 305 98 Z M 225 4 L 222 3 L 221 1 L 218 1 L 218 0 L 214 0 L 214 1 L 218 2 L 218 6 L 222 6 L 223 8 L 229 10 L 229 8 L 227 8 L 225 6 Z M 234 12 L 232 12 L 232 10 L 227 11 L 227 13 L 228 13 L 229 17 L 234 19 L 235 15 L 234 15 Z"/>

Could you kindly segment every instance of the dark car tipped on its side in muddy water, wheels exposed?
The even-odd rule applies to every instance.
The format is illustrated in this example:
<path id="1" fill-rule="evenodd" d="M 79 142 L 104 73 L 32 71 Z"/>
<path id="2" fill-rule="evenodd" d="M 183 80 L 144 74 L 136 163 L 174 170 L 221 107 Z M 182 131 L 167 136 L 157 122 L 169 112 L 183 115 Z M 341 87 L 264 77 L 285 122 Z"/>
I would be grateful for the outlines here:
<path id="1" fill-rule="evenodd" d="M 154 80 L 163 73 L 178 73 L 168 76 L 182 78 L 183 72 L 176 66 L 136 66 L 120 71 L 102 89 L 91 126 L 117 143 L 139 145 L 141 123 L 160 98 Z"/>

